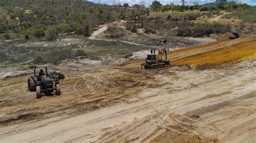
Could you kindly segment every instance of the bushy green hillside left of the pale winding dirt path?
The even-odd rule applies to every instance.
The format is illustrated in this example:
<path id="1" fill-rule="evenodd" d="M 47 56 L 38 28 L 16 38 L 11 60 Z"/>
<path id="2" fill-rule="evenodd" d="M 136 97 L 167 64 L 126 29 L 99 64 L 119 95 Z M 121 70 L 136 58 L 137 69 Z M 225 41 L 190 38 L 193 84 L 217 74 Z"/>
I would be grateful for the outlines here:
<path id="1" fill-rule="evenodd" d="M 96 25 L 113 22 L 119 6 L 71 0 L 0 1 L 0 36 L 5 39 L 42 37 L 45 32 L 90 35 Z M 47 31 L 48 30 L 48 31 Z"/>

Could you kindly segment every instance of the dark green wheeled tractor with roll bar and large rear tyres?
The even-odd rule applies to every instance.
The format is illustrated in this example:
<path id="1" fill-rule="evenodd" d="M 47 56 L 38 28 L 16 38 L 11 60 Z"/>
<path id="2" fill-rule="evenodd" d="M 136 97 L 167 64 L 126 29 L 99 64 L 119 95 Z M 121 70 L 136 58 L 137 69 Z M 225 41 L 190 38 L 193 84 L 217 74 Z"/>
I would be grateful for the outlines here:
<path id="1" fill-rule="evenodd" d="M 36 70 L 40 69 L 40 73 L 36 75 Z M 45 69 L 45 73 L 43 73 Z M 48 73 L 46 66 L 35 66 L 34 73 L 28 79 L 29 91 L 36 91 L 36 97 L 41 98 L 42 92 L 50 94 L 55 90 L 56 95 L 60 95 L 59 79 L 53 78 Z"/>

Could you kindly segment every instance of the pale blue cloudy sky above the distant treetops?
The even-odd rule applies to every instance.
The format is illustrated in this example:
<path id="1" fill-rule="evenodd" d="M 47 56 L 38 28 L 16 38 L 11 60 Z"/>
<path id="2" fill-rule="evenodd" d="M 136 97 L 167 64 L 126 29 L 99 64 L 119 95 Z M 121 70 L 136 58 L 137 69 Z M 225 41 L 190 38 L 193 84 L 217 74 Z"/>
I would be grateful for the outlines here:
<path id="1" fill-rule="evenodd" d="M 151 5 L 153 0 L 145 1 L 145 0 L 89 0 L 94 3 L 101 3 L 101 4 L 124 4 L 128 3 L 129 5 L 133 4 L 144 4 L 144 5 Z M 180 4 L 180 0 L 158 0 L 161 4 Z M 236 2 L 247 3 L 253 6 L 256 6 L 256 0 L 235 0 Z M 215 2 L 215 0 L 186 0 L 188 5 L 191 4 L 205 4 L 210 2 Z"/>

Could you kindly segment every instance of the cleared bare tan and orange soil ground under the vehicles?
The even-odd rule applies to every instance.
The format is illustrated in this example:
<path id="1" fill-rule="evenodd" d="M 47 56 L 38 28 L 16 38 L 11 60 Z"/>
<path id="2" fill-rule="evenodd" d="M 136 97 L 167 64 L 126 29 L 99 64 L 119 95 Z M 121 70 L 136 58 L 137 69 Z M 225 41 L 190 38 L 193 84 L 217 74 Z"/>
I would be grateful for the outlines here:
<path id="1" fill-rule="evenodd" d="M 0 142 L 255 141 L 255 41 L 179 49 L 161 69 L 133 60 L 67 71 L 62 95 L 41 99 L 28 91 L 28 75 L 4 78 Z"/>

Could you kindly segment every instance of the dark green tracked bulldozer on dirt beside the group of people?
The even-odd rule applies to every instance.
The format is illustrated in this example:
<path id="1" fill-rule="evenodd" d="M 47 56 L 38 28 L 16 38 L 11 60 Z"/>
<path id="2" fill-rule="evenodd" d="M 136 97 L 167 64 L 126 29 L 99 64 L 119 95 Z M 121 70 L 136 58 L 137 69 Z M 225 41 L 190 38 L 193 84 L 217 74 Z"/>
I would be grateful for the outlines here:
<path id="1" fill-rule="evenodd" d="M 169 65 L 170 60 L 162 60 L 157 59 L 157 56 L 154 54 L 147 55 L 147 59 L 145 62 L 141 63 L 140 66 L 144 67 L 145 69 L 150 68 L 163 68 L 165 65 Z"/>

